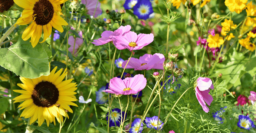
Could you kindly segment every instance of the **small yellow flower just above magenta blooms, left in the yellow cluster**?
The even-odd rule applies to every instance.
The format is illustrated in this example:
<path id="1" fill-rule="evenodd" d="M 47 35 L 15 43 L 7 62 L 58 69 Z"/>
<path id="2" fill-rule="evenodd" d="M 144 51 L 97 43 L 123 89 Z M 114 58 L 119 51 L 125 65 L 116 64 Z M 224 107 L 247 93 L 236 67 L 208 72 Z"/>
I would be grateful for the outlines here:
<path id="1" fill-rule="evenodd" d="M 217 48 L 224 43 L 224 40 L 219 34 L 215 34 L 215 36 L 209 35 L 207 42 L 210 48 Z"/>

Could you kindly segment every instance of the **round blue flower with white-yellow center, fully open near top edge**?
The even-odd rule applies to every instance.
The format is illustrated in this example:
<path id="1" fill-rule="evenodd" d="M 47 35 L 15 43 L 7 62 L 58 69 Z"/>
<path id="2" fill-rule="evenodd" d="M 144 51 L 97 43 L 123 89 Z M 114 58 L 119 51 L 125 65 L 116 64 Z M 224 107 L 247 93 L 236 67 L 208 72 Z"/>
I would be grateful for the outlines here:
<path id="1" fill-rule="evenodd" d="M 143 20 L 147 20 L 153 12 L 152 4 L 149 0 L 141 0 L 133 8 L 133 14 Z"/>

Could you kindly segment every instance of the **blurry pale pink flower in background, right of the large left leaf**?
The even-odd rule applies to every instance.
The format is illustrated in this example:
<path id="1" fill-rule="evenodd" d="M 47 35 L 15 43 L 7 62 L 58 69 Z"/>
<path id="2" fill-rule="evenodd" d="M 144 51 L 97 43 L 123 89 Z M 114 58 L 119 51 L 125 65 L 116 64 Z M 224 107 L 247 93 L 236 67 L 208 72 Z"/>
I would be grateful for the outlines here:
<path id="1" fill-rule="evenodd" d="M 74 54 L 75 56 L 76 55 L 76 52 L 79 48 L 79 46 L 81 46 L 83 44 L 83 37 L 82 37 L 82 31 L 80 31 L 78 33 L 78 35 L 80 36 L 80 38 L 76 38 L 76 42 L 75 42 L 75 38 L 73 36 L 69 36 L 68 38 L 68 44 L 70 45 L 70 47 L 68 48 L 69 52 L 73 54 L 73 51 L 74 51 Z M 75 49 L 74 49 L 74 45 L 75 45 Z"/>

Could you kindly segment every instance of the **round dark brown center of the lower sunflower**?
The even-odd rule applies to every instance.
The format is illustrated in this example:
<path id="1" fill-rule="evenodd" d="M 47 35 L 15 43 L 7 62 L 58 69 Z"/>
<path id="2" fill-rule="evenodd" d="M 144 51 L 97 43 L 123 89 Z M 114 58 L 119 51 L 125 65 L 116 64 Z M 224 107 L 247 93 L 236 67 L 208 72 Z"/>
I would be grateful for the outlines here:
<path id="1" fill-rule="evenodd" d="M 36 106 L 50 107 L 58 101 L 59 90 L 53 83 L 42 81 L 35 86 L 31 97 Z"/>

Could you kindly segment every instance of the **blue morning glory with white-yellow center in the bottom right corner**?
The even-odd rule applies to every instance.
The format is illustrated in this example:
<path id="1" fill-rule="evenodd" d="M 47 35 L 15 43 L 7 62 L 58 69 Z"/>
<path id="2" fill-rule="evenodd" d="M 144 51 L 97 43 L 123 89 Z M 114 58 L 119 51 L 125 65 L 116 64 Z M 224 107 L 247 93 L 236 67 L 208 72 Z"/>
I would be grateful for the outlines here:
<path id="1" fill-rule="evenodd" d="M 247 129 L 247 130 L 250 130 L 251 127 L 255 128 L 255 125 L 254 125 L 253 121 L 249 118 L 249 116 L 239 115 L 238 119 L 239 119 L 239 121 L 237 123 L 238 127 L 241 127 L 241 128 Z"/>

